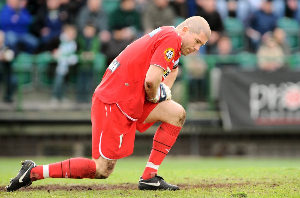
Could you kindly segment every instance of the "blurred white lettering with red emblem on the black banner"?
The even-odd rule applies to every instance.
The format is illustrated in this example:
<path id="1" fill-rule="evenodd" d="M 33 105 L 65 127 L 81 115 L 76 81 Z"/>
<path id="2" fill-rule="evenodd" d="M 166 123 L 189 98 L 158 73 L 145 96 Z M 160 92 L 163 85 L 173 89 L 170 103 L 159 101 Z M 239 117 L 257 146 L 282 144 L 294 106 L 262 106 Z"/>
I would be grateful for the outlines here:
<path id="1" fill-rule="evenodd" d="M 250 116 L 253 120 L 300 121 L 300 81 L 250 85 Z"/>

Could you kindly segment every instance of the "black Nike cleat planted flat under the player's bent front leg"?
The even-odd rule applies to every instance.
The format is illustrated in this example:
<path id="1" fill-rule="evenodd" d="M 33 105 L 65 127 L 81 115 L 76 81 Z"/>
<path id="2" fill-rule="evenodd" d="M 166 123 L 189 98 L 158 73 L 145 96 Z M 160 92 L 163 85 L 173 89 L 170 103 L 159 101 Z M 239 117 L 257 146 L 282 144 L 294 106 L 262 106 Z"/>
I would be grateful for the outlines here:
<path id="1" fill-rule="evenodd" d="M 158 175 L 150 179 L 142 179 L 140 177 L 139 180 L 139 189 L 140 190 L 179 190 L 179 187 L 176 185 L 168 184 L 165 180 Z"/>

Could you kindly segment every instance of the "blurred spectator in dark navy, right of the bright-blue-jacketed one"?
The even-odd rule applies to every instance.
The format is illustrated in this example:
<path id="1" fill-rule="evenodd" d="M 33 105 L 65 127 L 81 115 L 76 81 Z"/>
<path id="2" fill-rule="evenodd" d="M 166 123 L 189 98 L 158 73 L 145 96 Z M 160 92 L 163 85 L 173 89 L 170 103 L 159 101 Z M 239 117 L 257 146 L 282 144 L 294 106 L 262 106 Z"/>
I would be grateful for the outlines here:
<path id="1" fill-rule="evenodd" d="M 39 7 L 33 32 L 40 37 L 42 51 L 53 50 L 53 42 L 56 48 L 59 43 L 62 21 L 60 19 L 60 0 L 46 0 L 46 5 Z"/>

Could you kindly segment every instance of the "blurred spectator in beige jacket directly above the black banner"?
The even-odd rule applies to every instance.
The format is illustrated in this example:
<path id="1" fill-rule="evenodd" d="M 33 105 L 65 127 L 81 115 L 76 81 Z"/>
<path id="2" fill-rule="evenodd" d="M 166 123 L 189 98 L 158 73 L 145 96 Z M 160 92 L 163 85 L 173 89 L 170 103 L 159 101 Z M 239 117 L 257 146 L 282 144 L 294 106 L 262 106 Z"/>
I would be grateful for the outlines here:
<path id="1" fill-rule="evenodd" d="M 258 68 L 261 70 L 275 71 L 284 66 L 284 52 L 271 33 L 263 36 L 256 56 Z"/>

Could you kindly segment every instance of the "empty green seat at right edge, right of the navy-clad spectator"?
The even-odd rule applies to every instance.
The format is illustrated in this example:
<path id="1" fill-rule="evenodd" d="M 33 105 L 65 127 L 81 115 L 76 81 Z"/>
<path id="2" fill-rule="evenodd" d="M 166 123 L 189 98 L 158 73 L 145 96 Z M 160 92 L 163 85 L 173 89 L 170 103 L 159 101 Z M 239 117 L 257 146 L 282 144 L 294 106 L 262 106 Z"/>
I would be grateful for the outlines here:
<path id="1" fill-rule="evenodd" d="M 296 19 L 282 17 L 278 19 L 277 26 L 286 32 L 286 39 L 292 51 L 299 49 L 300 25 Z"/>

